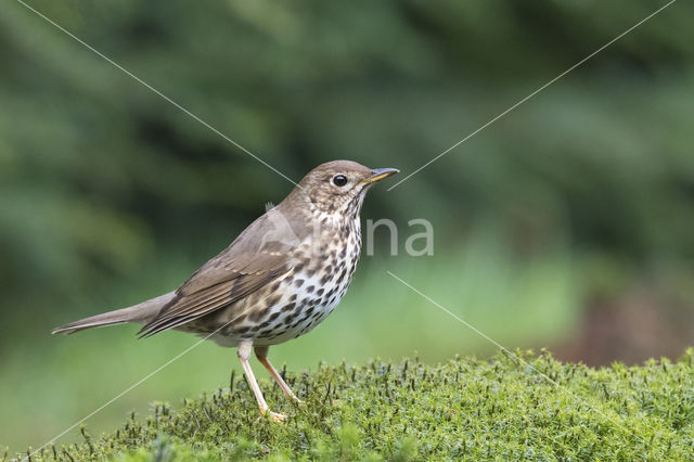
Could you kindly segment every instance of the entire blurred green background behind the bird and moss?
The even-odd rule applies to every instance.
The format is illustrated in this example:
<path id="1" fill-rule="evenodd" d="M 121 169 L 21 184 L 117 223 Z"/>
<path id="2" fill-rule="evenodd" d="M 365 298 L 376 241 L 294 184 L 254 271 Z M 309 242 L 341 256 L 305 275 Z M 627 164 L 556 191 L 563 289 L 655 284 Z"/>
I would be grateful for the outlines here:
<path id="1" fill-rule="evenodd" d="M 664 2 L 29 4 L 294 180 L 336 158 L 402 170 L 362 213 L 399 223 L 400 255 L 381 229 L 340 308 L 275 363 L 494 350 L 387 270 L 510 348 L 602 364 L 693 343 L 692 2 L 389 192 Z M 292 184 L 14 1 L 0 60 L 0 444 L 23 450 L 197 342 L 51 328 L 175 288 Z M 434 256 L 404 254 L 413 218 Z M 202 345 L 88 425 L 232 368 Z"/>

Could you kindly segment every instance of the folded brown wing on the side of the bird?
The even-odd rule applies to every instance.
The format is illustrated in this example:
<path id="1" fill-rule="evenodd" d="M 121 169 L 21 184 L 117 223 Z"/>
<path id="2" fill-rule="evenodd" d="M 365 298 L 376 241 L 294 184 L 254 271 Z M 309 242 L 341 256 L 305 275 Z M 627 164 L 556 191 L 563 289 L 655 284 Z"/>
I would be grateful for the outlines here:
<path id="1" fill-rule="evenodd" d="M 287 253 L 295 242 L 268 240 L 272 229 L 267 214 L 250 224 L 176 291 L 176 297 L 140 330 L 140 337 L 209 315 L 282 278 L 294 266 Z"/>

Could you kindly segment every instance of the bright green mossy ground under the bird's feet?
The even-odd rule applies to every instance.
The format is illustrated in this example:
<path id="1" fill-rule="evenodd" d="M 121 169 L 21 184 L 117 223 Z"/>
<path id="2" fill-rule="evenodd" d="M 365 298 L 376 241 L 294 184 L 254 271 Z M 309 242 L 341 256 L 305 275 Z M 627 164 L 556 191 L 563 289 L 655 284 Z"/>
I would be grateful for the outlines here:
<path id="1" fill-rule="evenodd" d="M 607 459 L 694 458 L 694 350 L 677 362 L 592 369 L 518 351 L 435 367 L 406 359 L 288 374 L 305 399 L 262 383 L 260 418 L 245 381 L 178 410 L 154 403 L 100 438 L 41 455 L 89 460 Z M 527 362 L 525 362 L 527 361 Z M 541 375 L 547 374 L 547 377 Z M 36 454 L 33 460 L 41 458 Z"/>

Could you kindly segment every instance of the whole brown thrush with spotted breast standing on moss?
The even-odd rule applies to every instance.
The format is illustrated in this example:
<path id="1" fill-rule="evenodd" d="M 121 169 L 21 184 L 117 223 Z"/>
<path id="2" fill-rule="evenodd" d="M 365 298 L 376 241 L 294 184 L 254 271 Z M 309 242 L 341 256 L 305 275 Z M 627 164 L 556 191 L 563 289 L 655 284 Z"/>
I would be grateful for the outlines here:
<path id="1" fill-rule="evenodd" d="M 52 333 L 139 323 L 140 338 L 176 330 L 236 347 L 260 413 L 282 422 L 286 415 L 268 409 L 250 369 L 252 350 L 284 394 L 300 402 L 269 361 L 269 347 L 308 333 L 343 299 L 361 252 L 367 191 L 398 172 L 351 161 L 321 164 L 176 291 Z"/>

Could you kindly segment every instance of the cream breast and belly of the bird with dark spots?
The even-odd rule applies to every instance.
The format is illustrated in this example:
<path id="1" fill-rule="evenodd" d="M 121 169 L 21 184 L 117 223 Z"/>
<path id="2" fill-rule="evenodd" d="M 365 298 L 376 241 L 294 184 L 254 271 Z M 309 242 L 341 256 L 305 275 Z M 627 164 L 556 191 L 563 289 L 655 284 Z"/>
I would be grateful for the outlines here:
<path id="1" fill-rule="evenodd" d="M 314 229 L 287 254 L 295 264 L 286 274 L 269 290 L 191 322 L 184 330 L 207 335 L 209 325 L 224 325 L 210 337 L 222 346 L 236 346 L 242 341 L 277 345 L 313 330 L 343 299 L 357 269 L 360 208 L 361 201 L 332 213 L 310 207 L 307 220 Z"/>

